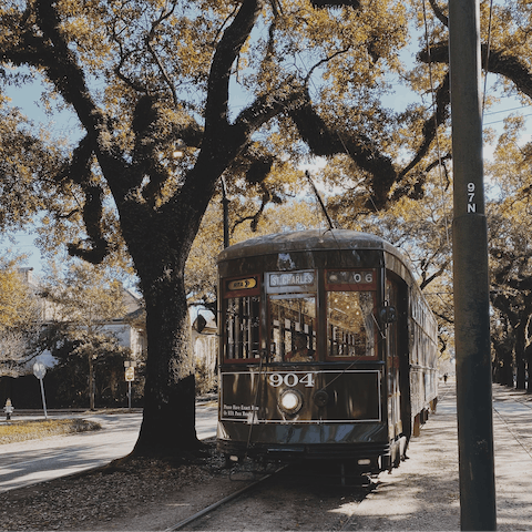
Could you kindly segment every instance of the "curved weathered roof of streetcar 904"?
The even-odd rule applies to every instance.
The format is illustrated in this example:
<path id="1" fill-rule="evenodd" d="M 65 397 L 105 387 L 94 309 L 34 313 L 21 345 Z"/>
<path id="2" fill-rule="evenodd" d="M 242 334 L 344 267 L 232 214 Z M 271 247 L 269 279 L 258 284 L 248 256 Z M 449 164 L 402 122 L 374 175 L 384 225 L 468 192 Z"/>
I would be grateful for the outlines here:
<path id="1" fill-rule="evenodd" d="M 218 263 L 272 253 L 325 249 L 378 249 L 408 264 L 402 253 L 383 238 L 350 229 L 307 229 L 249 238 L 224 249 Z"/>

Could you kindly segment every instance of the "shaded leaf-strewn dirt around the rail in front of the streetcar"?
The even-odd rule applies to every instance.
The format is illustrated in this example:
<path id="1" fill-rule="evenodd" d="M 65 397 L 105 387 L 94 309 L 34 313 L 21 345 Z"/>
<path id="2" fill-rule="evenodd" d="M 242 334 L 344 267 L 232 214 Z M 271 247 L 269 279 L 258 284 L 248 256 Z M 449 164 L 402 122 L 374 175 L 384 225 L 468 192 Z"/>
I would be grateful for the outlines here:
<path id="1" fill-rule="evenodd" d="M 256 464 L 233 469 L 207 441 L 191 463 L 122 459 L 105 468 L 0 494 L 2 532 L 165 532 L 265 474 Z M 273 472 L 272 464 L 263 473 Z M 327 471 L 327 474 L 329 471 Z M 332 489 L 308 467 L 288 468 L 187 531 L 337 532 L 368 488 Z"/>

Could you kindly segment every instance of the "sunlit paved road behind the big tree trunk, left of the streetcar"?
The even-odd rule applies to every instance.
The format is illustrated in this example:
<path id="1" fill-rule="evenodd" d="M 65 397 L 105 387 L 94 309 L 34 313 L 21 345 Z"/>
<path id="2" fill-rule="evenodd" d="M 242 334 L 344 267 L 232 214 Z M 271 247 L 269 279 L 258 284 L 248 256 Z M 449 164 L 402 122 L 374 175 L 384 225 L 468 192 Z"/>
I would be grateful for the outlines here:
<path id="1" fill-rule="evenodd" d="M 83 418 L 98 421 L 103 430 L 0 446 L 0 491 L 96 468 L 133 450 L 141 427 L 141 413 Z M 216 407 L 196 407 L 200 439 L 216 434 Z"/>

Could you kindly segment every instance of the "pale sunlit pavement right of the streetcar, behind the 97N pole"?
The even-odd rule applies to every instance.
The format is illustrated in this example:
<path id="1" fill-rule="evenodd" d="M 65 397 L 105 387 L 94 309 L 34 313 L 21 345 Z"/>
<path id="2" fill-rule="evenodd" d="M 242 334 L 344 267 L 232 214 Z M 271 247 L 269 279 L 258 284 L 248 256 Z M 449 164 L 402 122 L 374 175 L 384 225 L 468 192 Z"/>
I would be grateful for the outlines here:
<path id="1" fill-rule="evenodd" d="M 460 531 L 454 382 L 440 386 L 438 411 L 410 442 L 409 459 L 358 507 L 341 532 Z M 498 532 L 532 532 L 532 398 L 493 386 Z"/>

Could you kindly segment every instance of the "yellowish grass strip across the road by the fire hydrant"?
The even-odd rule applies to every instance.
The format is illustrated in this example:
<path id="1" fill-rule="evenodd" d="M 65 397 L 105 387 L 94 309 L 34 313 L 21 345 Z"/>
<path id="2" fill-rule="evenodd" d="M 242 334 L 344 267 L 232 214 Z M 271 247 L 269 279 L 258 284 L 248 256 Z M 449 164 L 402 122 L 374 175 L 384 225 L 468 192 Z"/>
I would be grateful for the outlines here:
<path id="1" fill-rule="evenodd" d="M 49 436 L 74 434 L 101 429 L 100 423 L 84 419 L 49 419 L 39 421 L 10 421 L 0 426 L 0 444 L 35 440 Z"/>

